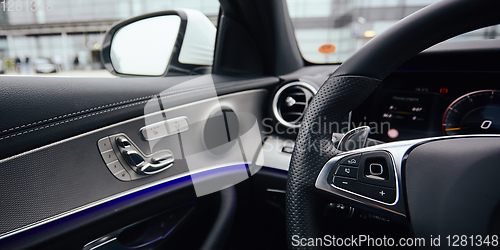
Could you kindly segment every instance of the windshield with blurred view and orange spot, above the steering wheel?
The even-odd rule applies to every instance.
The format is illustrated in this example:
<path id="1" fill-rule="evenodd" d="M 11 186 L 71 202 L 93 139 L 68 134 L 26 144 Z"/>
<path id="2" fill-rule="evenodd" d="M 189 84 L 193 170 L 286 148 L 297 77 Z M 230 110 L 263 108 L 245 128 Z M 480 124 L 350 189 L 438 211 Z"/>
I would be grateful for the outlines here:
<path id="1" fill-rule="evenodd" d="M 373 37 L 438 0 L 287 0 L 295 36 L 305 60 L 341 63 Z M 449 41 L 495 39 L 500 26 Z"/>

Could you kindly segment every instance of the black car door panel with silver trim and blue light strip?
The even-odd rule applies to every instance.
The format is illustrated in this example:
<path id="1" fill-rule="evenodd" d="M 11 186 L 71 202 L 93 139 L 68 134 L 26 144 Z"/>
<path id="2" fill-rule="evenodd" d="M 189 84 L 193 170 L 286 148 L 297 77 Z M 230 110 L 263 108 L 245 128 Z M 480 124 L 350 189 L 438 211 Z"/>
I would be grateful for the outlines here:
<path id="1" fill-rule="evenodd" d="M 197 178 L 196 173 L 224 167 L 241 172 L 241 167 L 233 165 L 248 162 L 245 159 L 235 162 L 227 157 L 190 171 L 185 148 L 198 147 L 192 154 L 204 150 L 204 123 L 214 109 L 230 108 L 261 120 L 260 103 L 267 100 L 266 88 L 274 86 L 278 79 L 203 77 L 201 81 L 193 81 L 196 77 L 151 81 L 151 78 L 98 79 L 88 81 L 93 83 L 87 86 L 83 83 L 86 79 L 81 78 L 43 78 L 41 81 L 48 87 L 36 96 L 33 96 L 35 90 L 28 91 L 27 95 L 21 89 L 10 91 L 10 99 L 3 105 L 11 109 L 2 111 L 2 115 L 11 119 L 2 123 L 2 131 L 7 131 L 1 135 L 0 143 L 0 245 L 8 243 L 18 248 L 26 244 L 23 240 L 26 238 L 30 239 L 27 246 L 54 240 L 63 231 L 81 231 L 100 220 L 117 218 L 119 210 L 144 207 L 147 201 L 168 197 L 171 189 L 172 192 L 177 189 L 189 191 L 183 191 L 183 195 L 177 195 L 180 198 L 165 206 L 182 205 L 196 198 L 192 181 Z M 151 84 L 140 84 L 145 79 Z M 22 84 L 22 81 L 23 78 L 12 77 L 9 84 Z M 57 89 L 61 89 L 61 93 L 53 95 L 50 92 Z M 161 92 L 163 89 L 167 90 Z M 17 103 L 22 105 L 17 105 L 12 95 L 17 95 Z M 85 96 L 91 100 L 85 100 Z M 42 105 L 49 97 L 57 101 Z M 217 105 L 207 105 L 210 102 Z M 36 115 L 15 119 L 16 113 L 26 112 Z M 139 130 L 145 125 L 179 116 L 193 121 L 188 131 L 154 143 L 141 138 Z M 174 165 L 152 176 L 133 181 L 118 180 L 101 158 L 97 142 L 120 133 L 126 134 L 145 154 L 170 149 L 174 153 Z M 254 159 L 248 158 L 249 161 Z M 231 175 L 231 171 L 227 173 Z M 220 177 L 221 173 L 216 175 Z M 200 180 L 204 178 L 206 176 Z M 134 222 L 130 218 L 119 221 L 110 223 L 110 228 L 116 230 L 117 226 Z"/>

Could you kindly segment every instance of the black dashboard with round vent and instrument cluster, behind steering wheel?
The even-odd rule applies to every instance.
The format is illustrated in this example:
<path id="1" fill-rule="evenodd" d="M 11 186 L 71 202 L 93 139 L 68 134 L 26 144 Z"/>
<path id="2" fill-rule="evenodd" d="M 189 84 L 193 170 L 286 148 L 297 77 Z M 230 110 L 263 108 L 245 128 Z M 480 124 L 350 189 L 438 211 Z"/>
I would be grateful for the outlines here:
<path id="1" fill-rule="evenodd" d="M 464 134 L 500 134 L 500 41 L 436 45 L 392 72 L 336 133 L 369 126 L 369 146 L 383 142 Z M 309 102 L 339 65 L 314 65 L 280 76 L 270 89 L 267 138 L 259 159 L 288 170 Z M 282 122 L 285 120 L 286 122 Z M 267 120 L 266 120 L 267 121 Z M 349 126 L 347 124 L 350 124 Z M 329 127 L 331 128 L 331 127 Z"/>

